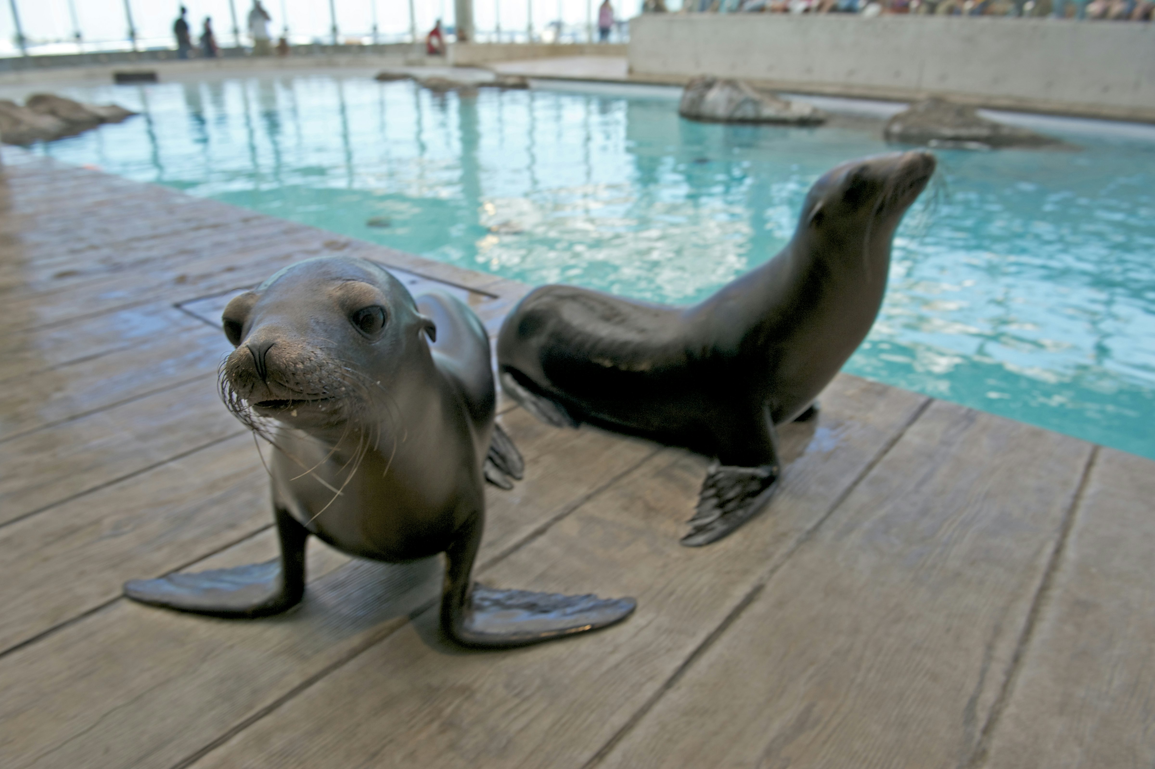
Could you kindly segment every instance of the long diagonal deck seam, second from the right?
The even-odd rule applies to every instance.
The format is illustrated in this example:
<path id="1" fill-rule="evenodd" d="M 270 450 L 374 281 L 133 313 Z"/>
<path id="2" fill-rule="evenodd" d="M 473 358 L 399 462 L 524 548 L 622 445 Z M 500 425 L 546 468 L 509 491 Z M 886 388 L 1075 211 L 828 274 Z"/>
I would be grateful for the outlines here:
<path id="1" fill-rule="evenodd" d="M 683 663 L 677 667 L 677 670 L 675 670 L 673 673 L 670 674 L 670 676 L 662 683 L 662 686 L 660 686 L 658 689 L 653 695 L 650 695 L 650 697 L 647 698 L 644 703 L 642 703 L 641 708 L 639 708 L 634 712 L 634 715 L 631 716 L 625 724 L 623 724 L 621 729 L 614 732 L 613 735 L 610 737 L 610 739 L 605 742 L 605 745 L 598 748 L 598 750 L 593 756 L 590 756 L 590 759 L 586 763 L 582 764 L 582 769 L 593 769 L 597 764 L 602 763 L 602 761 L 604 761 L 610 755 L 610 753 L 613 752 L 613 748 L 616 748 L 621 742 L 621 740 L 624 740 L 629 734 L 629 732 L 632 732 L 638 726 L 638 724 L 640 724 L 642 719 L 646 718 L 646 716 L 654 709 L 654 707 L 662 700 L 662 697 L 665 696 L 666 692 L 677 686 L 678 681 L 680 681 L 683 676 L 685 676 L 685 674 L 690 671 L 690 668 L 694 665 L 694 663 L 696 663 L 702 657 L 702 655 L 709 651 L 710 646 L 713 646 L 714 643 L 718 638 L 721 638 L 722 635 L 728 629 L 730 629 L 730 627 L 742 616 L 742 614 L 755 600 L 758 600 L 758 597 L 761 596 L 763 590 L 766 590 L 766 586 L 769 584 L 770 579 L 774 578 L 774 575 L 776 575 L 782 569 L 782 567 L 787 564 L 787 562 L 795 553 L 797 553 L 803 546 L 806 545 L 806 542 L 813 539 L 814 534 L 818 533 L 818 530 L 821 528 L 827 520 L 829 520 L 829 518 L 835 513 L 835 511 L 837 511 L 840 506 L 842 506 L 842 503 L 845 502 L 847 498 L 854 493 L 854 490 L 858 488 L 859 483 L 862 483 L 862 481 L 865 480 L 866 476 L 871 474 L 871 472 L 873 472 L 874 467 L 877 467 L 878 464 L 882 461 L 882 459 L 891 452 L 891 450 L 899 443 L 899 441 L 902 439 L 902 437 L 907 434 L 907 431 L 911 428 L 911 426 L 914 426 L 914 423 L 918 421 L 918 419 L 926 412 L 927 408 L 930 408 L 931 404 L 933 402 L 934 402 L 933 398 L 923 397 L 922 404 L 919 404 L 918 407 L 910 415 L 910 417 L 907 419 L 902 428 L 899 429 L 889 441 L 882 444 L 882 448 L 878 451 L 878 453 L 875 453 L 874 457 L 866 464 L 866 466 L 858 473 L 858 475 L 855 476 L 855 480 L 851 481 L 849 486 L 847 486 L 847 488 L 842 491 L 842 494 L 840 494 L 835 498 L 835 501 L 830 504 L 830 506 L 827 508 L 826 512 L 819 516 L 818 520 L 815 520 L 802 534 L 799 534 L 798 538 L 793 541 L 793 544 L 785 550 L 785 553 L 782 554 L 780 559 L 777 559 L 765 571 L 762 571 L 754 578 L 754 584 L 751 586 L 748 591 L 746 591 L 746 594 L 743 596 L 742 599 L 739 599 L 739 601 L 733 606 L 733 608 L 731 608 L 730 612 L 726 613 L 722 622 L 720 622 L 718 626 L 714 628 L 714 630 L 711 630 L 709 635 L 707 635 L 702 639 L 702 642 L 699 643 L 698 646 L 693 649 L 693 651 L 690 652 L 686 659 L 683 660 Z"/>

